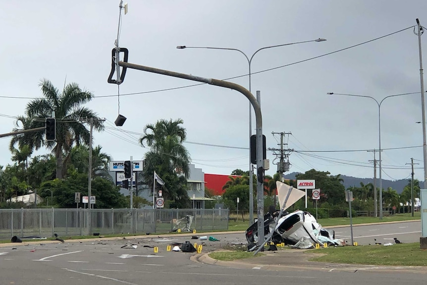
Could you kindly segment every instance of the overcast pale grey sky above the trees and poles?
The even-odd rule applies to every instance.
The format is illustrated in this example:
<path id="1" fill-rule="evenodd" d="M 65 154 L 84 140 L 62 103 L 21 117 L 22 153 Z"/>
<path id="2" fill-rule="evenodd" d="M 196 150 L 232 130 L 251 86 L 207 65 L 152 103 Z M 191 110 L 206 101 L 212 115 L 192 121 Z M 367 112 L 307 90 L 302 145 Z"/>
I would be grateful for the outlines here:
<path id="1" fill-rule="evenodd" d="M 144 126 L 181 118 L 184 145 L 197 168 L 217 174 L 249 170 L 249 101 L 241 93 L 207 84 L 187 87 L 198 82 L 132 69 L 119 90 L 107 83 L 119 2 L 2 3 L 0 133 L 12 131 L 14 117 L 42 96 L 41 79 L 58 89 L 76 82 L 95 96 L 86 106 L 106 119 L 106 130 L 94 133 L 94 145 L 114 161 L 142 160 L 148 150 L 138 143 Z M 243 54 L 176 46 L 232 48 L 250 58 L 261 48 L 310 41 L 263 49 L 251 61 L 251 91 L 261 92 L 267 148 L 280 148 L 280 135 L 272 132 L 291 133 L 284 137 L 284 148 L 293 150 L 287 152 L 289 172 L 373 177 L 369 150 L 379 149 L 379 139 L 372 98 L 380 102 L 415 93 L 384 99 L 379 109 L 382 178 L 410 178 L 413 158 L 415 178 L 424 180 L 423 128 L 416 123 L 422 120 L 420 58 L 413 26 L 416 18 L 427 26 L 426 10 L 425 0 L 128 0 L 119 46 L 129 50 L 131 63 L 226 79 L 249 89 Z M 327 41 L 314 42 L 318 38 Z M 127 117 L 121 127 L 114 125 L 118 114 Z M 9 141 L 0 139 L 3 166 L 11 163 Z M 266 174 L 275 173 L 275 158 L 267 150 Z"/>

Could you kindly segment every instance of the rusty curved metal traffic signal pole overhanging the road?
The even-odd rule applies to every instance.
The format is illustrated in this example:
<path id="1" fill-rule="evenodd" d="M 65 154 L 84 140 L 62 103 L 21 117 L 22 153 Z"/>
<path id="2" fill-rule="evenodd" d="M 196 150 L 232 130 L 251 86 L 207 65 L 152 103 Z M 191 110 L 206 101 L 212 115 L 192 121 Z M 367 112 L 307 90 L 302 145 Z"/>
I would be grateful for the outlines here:
<path id="1" fill-rule="evenodd" d="M 159 68 L 154 68 L 154 67 L 149 67 L 149 66 L 144 66 L 144 65 L 138 65 L 138 64 L 129 63 L 129 62 L 120 61 L 119 65 L 122 67 L 131 68 L 131 69 L 137 69 L 137 70 L 142 70 L 142 71 L 147 71 L 147 72 L 152 72 L 152 73 L 158 73 L 158 74 L 162 74 L 162 75 L 178 77 L 178 78 L 188 79 L 188 80 L 192 80 L 192 81 L 204 82 L 204 83 L 208 83 L 208 84 L 215 85 L 215 86 L 233 89 L 233 90 L 239 91 L 240 93 L 245 95 L 246 98 L 248 98 L 249 102 L 251 102 L 252 106 L 254 107 L 254 111 L 255 111 L 255 119 L 256 119 L 256 127 L 257 127 L 256 144 L 258 146 L 257 147 L 257 169 L 263 168 L 263 164 L 262 164 L 262 162 L 263 162 L 263 147 L 262 147 L 262 143 L 263 143 L 263 139 L 262 139 L 263 138 L 263 117 L 261 115 L 261 107 L 258 104 L 257 99 L 254 97 L 254 95 L 252 95 L 251 92 L 249 92 L 248 89 L 244 88 L 243 86 L 241 86 L 239 84 L 235 84 L 235 83 L 228 82 L 228 81 L 222 81 L 222 80 L 213 79 L 213 78 L 204 78 L 204 77 L 194 76 L 194 75 L 190 75 L 190 74 L 178 73 L 178 72 L 174 72 L 174 71 L 169 71 L 169 70 L 164 70 L 164 69 L 159 69 Z M 263 195 L 263 197 L 264 197 L 264 187 L 263 187 L 262 179 L 257 179 L 257 193 L 258 193 L 258 197 L 260 197 L 260 195 Z M 264 203 L 263 203 L 263 205 L 258 206 L 258 211 L 257 211 L 258 212 L 257 214 L 258 214 L 258 244 L 259 245 L 264 242 L 264 208 L 263 207 L 264 207 Z"/>

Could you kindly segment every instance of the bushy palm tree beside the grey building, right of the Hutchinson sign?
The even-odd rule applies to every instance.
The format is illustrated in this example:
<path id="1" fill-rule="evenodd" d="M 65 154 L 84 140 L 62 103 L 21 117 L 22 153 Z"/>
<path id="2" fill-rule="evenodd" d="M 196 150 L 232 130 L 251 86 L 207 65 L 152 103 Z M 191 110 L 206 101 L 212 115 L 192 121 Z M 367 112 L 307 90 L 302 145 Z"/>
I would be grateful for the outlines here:
<path id="1" fill-rule="evenodd" d="M 186 130 L 182 119 L 161 119 L 156 124 L 147 124 L 144 135 L 139 140 L 150 151 L 145 155 L 143 177 L 151 187 L 154 183 L 154 171 L 165 182 L 164 198 L 174 200 L 173 207 L 188 207 L 187 178 L 189 176 L 190 155 L 184 147 Z M 171 207 L 172 207 L 171 206 Z"/>

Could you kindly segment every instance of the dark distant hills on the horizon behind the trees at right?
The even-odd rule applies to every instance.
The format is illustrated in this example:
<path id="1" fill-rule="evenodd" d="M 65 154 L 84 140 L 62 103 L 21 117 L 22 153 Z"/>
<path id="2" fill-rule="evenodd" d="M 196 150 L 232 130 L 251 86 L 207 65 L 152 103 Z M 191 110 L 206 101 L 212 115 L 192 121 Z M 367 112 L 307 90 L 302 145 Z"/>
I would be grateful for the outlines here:
<path id="1" fill-rule="evenodd" d="M 299 174 L 299 172 L 292 172 L 289 174 L 284 175 L 285 179 L 295 179 L 295 175 Z M 360 182 L 363 182 L 363 184 L 368 183 L 374 183 L 374 178 L 358 178 L 353 176 L 346 176 L 346 175 L 340 175 L 340 177 L 344 180 L 343 184 L 344 187 L 347 189 L 351 186 L 360 186 Z M 392 187 L 394 190 L 397 191 L 398 194 L 402 193 L 403 188 L 408 185 L 408 183 L 411 181 L 411 179 L 400 179 L 400 180 L 387 180 L 382 179 L 382 189 L 387 189 L 388 187 Z M 423 182 L 420 181 L 420 186 L 423 185 Z M 379 179 L 376 178 L 376 187 L 379 187 Z"/>

